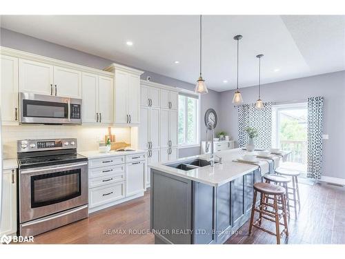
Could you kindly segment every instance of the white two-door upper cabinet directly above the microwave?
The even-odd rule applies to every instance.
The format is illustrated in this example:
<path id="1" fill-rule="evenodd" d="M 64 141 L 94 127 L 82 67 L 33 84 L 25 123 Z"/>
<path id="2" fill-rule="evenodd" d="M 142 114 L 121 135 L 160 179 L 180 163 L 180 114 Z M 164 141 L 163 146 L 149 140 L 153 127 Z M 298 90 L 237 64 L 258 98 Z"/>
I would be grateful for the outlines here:
<path id="1" fill-rule="evenodd" d="M 19 90 L 41 95 L 81 98 L 81 72 L 19 59 Z"/>

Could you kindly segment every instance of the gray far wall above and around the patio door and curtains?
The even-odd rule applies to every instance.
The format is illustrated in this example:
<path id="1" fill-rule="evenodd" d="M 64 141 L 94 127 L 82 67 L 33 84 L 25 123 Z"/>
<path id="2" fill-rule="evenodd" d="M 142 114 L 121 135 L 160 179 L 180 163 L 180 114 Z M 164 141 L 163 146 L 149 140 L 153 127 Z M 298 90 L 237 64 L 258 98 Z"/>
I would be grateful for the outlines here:
<path id="1" fill-rule="evenodd" d="M 221 128 L 237 140 L 237 108 L 230 105 L 234 90 L 220 93 Z M 257 86 L 241 89 L 244 102 L 255 102 Z M 345 178 L 344 128 L 345 128 L 345 71 L 281 81 L 262 86 L 264 102 L 286 102 L 324 97 L 323 132 L 329 140 L 323 141 L 323 175 Z"/>

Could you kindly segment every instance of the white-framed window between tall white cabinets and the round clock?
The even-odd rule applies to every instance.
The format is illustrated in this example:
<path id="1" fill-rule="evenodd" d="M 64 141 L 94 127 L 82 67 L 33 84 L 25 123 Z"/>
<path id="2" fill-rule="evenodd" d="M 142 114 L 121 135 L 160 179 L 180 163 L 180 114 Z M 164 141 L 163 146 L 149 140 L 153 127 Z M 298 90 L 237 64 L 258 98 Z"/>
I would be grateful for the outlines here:
<path id="1" fill-rule="evenodd" d="M 199 144 L 199 99 L 179 94 L 179 145 Z"/>

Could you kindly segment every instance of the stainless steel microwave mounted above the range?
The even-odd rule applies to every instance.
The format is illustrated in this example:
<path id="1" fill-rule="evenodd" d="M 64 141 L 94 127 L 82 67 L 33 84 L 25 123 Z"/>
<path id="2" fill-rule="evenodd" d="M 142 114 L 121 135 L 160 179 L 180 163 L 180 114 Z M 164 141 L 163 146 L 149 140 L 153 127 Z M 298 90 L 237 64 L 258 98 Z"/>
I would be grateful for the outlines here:
<path id="1" fill-rule="evenodd" d="M 20 93 L 21 124 L 81 124 L 81 99 Z"/>

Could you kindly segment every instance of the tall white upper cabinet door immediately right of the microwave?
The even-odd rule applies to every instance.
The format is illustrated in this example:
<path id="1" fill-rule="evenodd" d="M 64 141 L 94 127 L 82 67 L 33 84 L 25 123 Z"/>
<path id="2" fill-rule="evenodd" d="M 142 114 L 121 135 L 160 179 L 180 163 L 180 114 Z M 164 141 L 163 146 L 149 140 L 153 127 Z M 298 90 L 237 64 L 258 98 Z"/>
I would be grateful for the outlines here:
<path id="1" fill-rule="evenodd" d="M 97 123 L 98 111 L 98 75 L 83 73 L 83 123 Z"/>

